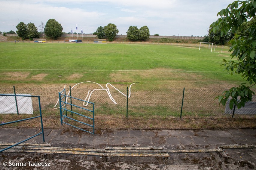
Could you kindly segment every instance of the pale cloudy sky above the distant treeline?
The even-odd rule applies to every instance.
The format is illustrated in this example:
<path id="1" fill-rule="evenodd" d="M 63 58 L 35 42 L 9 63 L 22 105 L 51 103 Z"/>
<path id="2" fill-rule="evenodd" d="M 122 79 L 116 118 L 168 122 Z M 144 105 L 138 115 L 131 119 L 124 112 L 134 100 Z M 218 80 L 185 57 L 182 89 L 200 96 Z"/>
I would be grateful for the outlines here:
<path id="1" fill-rule="evenodd" d="M 113 23 L 118 34 L 147 25 L 150 35 L 204 36 L 217 13 L 234 0 L 0 0 L 0 31 L 20 22 L 37 28 L 55 19 L 63 32 L 90 34 Z M 76 24 L 78 30 L 75 30 Z"/>

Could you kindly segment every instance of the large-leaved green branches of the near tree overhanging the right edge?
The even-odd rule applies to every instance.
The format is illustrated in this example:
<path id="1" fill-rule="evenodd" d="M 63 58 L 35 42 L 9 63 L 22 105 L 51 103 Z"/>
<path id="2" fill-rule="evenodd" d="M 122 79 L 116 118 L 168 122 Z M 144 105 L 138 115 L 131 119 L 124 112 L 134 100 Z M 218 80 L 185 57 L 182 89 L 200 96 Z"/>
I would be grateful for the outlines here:
<path id="1" fill-rule="evenodd" d="M 221 36 L 229 31 L 235 33 L 236 30 L 242 31 L 243 22 L 247 19 L 253 19 L 256 13 L 256 1 L 234 1 L 227 8 L 218 12 L 220 18 L 212 23 L 212 31 L 216 32 L 221 28 Z M 242 78 L 249 84 L 241 83 L 237 87 L 222 92 L 217 98 L 220 104 L 225 105 L 228 98 L 231 97 L 229 107 L 233 109 L 234 105 L 241 108 L 246 101 L 251 101 L 254 92 L 250 89 L 256 84 L 256 26 L 248 25 L 245 30 L 246 36 L 235 34 L 229 41 L 231 44 L 229 52 L 231 58 L 236 57 L 237 61 L 227 61 L 223 59 L 225 70 L 231 70 L 231 75 L 241 74 Z"/>

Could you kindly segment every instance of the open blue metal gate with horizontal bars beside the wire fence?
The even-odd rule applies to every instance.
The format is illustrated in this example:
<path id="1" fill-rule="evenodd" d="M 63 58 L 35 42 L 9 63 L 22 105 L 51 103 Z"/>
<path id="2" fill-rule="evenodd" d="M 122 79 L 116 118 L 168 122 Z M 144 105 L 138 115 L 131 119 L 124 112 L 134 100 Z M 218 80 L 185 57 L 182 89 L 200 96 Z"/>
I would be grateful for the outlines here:
<path id="1" fill-rule="evenodd" d="M 62 94 L 62 92 L 64 92 L 64 94 Z M 83 108 L 83 107 L 74 105 L 74 104 L 72 104 L 72 102 L 71 102 L 71 103 L 68 103 L 68 102 L 66 102 L 66 101 L 67 101 L 67 100 L 66 100 L 67 97 L 70 97 L 70 99 L 76 99 L 76 100 L 80 100 L 80 101 L 83 101 L 83 102 L 87 102 L 87 103 L 93 104 L 93 110 L 85 109 L 85 108 Z M 65 101 L 62 100 L 63 98 L 65 98 Z M 62 104 L 62 103 L 63 103 L 63 104 Z M 73 112 L 72 110 L 68 110 L 68 109 L 67 109 L 67 104 L 69 104 L 71 107 L 78 107 L 78 108 L 80 108 L 80 109 L 83 109 L 83 110 L 87 110 L 87 111 L 89 111 L 89 112 L 92 112 L 92 113 L 93 113 L 93 118 L 90 118 L 90 117 L 88 117 L 88 116 L 84 116 L 84 115 L 82 115 L 82 114 Z M 65 107 L 64 107 L 64 106 L 65 106 Z M 63 108 L 63 107 L 64 107 L 64 108 Z M 61 125 L 63 125 L 63 123 L 64 123 L 64 124 L 69 125 L 69 126 L 72 126 L 72 127 L 74 127 L 74 128 L 77 128 L 77 129 L 83 130 L 83 131 L 85 131 L 85 132 L 94 134 L 94 129 L 95 129 L 95 128 L 94 128 L 94 127 L 95 127 L 95 126 L 94 126 L 94 125 L 95 125 L 95 124 L 94 124 L 94 103 L 89 102 L 89 101 L 85 101 L 85 100 L 81 100 L 81 99 L 79 99 L 79 98 L 75 98 L 75 97 L 72 97 L 72 96 L 68 96 L 68 95 L 66 95 L 66 89 L 63 89 L 61 92 L 59 92 L 59 111 L 60 111 L 60 122 L 61 122 Z M 66 114 L 63 115 L 63 113 L 64 113 L 65 111 L 66 111 Z M 87 124 L 87 123 L 78 121 L 78 120 L 73 119 L 73 118 L 71 118 L 71 117 L 68 117 L 68 116 L 67 116 L 67 111 L 68 111 L 68 112 L 71 112 L 71 113 L 75 113 L 75 114 L 77 114 L 77 115 L 79 115 L 79 116 L 83 116 L 83 117 L 86 117 L 86 118 L 88 118 L 88 119 L 93 120 L 93 125 L 89 125 L 89 124 Z M 76 126 L 70 125 L 69 123 L 63 122 L 63 120 L 64 120 L 65 118 L 74 120 L 74 121 L 76 121 L 76 122 L 82 123 L 82 124 L 87 125 L 87 126 L 90 126 L 90 127 L 93 128 L 93 132 L 90 132 L 90 131 L 87 131 L 87 130 L 78 128 L 78 127 L 76 127 Z"/>

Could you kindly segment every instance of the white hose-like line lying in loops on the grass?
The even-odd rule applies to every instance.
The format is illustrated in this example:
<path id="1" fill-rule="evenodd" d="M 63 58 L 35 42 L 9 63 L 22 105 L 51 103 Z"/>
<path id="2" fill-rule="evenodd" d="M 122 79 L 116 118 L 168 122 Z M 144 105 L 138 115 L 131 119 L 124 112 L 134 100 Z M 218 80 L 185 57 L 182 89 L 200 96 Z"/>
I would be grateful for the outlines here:
<path id="1" fill-rule="evenodd" d="M 92 81 L 84 81 L 84 82 L 81 82 L 81 83 L 95 83 L 95 82 L 92 82 Z M 81 83 L 78 83 L 78 84 L 81 84 Z M 78 85 L 78 84 L 75 84 L 70 90 L 72 90 L 72 89 L 73 89 L 76 85 Z M 95 83 L 95 84 L 98 84 L 98 83 Z M 110 93 L 110 89 L 108 88 L 108 84 L 109 84 L 110 86 L 112 86 L 114 89 L 116 89 L 118 92 L 120 92 L 122 95 L 124 95 L 125 97 L 127 97 L 127 95 L 125 95 L 124 93 L 122 93 L 120 90 L 118 90 L 116 87 L 114 87 L 114 86 L 113 86 L 112 84 L 110 84 L 110 83 L 107 83 L 107 84 L 106 84 L 107 89 L 103 88 L 100 84 L 98 84 L 98 85 L 101 87 L 101 89 L 88 90 L 87 96 L 86 96 L 86 98 L 84 99 L 84 102 L 83 102 L 83 106 L 87 106 L 87 105 L 89 104 L 88 102 L 86 102 L 86 104 L 85 104 L 85 101 L 90 101 L 91 95 L 92 95 L 92 93 L 93 93 L 95 90 L 105 90 L 105 91 L 107 92 L 108 97 L 110 98 L 110 100 L 111 100 L 114 104 L 117 104 L 117 102 L 114 100 L 114 98 L 112 97 L 112 95 L 111 95 L 111 93 Z M 133 84 L 136 84 L 136 83 L 133 83 Z M 132 86 L 133 84 L 130 85 L 128 98 L 130 98 L 130 96 L 131 96 L 131 86 Z M 64 85 L 64 89 L 65 89 L 65 88 L 66 88 L 66 84 Z M 63 90 L 64 90 L 64 89 L 63 89 Z M 64 92 L 63 90 L 62 90 L 62 93 Z M 62 94 L 62 93 L 61 93 L 61 94 Z M 66 102 L 68 101 L 68 98 L 69 98 L 68 96 L 69 96 L 69 94 L 70 94 L 70 91 L 69 91 L 68 94 L 67 94 Z M 56 102 L 56 104 L 55 104 L 55 106 L 53 107 L 53 109 L 59 109 L 59 107 L 56 107 L 58 103 L 59 103 L 59 99 L 58 99 L 58 101 Z"/>

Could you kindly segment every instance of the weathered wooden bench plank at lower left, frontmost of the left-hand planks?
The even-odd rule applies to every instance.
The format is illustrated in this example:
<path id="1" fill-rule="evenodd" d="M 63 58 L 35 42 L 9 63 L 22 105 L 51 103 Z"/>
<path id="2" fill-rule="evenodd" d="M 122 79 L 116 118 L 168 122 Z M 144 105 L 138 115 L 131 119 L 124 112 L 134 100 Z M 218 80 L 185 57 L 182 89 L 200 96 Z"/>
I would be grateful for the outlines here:
<path id="1" fill-rule="evenodd" d="M 87 156 L 104 156 L 104 153 L 101 152 L 77 152 L 77 151 L 58 151 L 58 150 L 29 150 L 29 149 L 7 149 L 3 151 L 5 152 L 11 152 L 11 153 L 36 153 L 36 154 L 72 154 L 72 155 L 87 155 Z"/>

